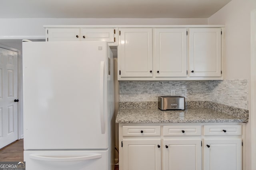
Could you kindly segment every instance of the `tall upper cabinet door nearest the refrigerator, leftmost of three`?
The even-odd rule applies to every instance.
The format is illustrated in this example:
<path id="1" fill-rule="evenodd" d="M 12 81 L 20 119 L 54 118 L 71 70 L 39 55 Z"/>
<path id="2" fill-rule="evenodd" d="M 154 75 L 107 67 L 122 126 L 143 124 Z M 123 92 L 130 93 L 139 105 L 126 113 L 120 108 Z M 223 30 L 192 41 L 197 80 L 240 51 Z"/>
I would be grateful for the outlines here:
<path id="1" fill-rule="evenodd" d="M 121 28 L 119 31 L 119 77 L 152 77 L 152 28 Z"/>

